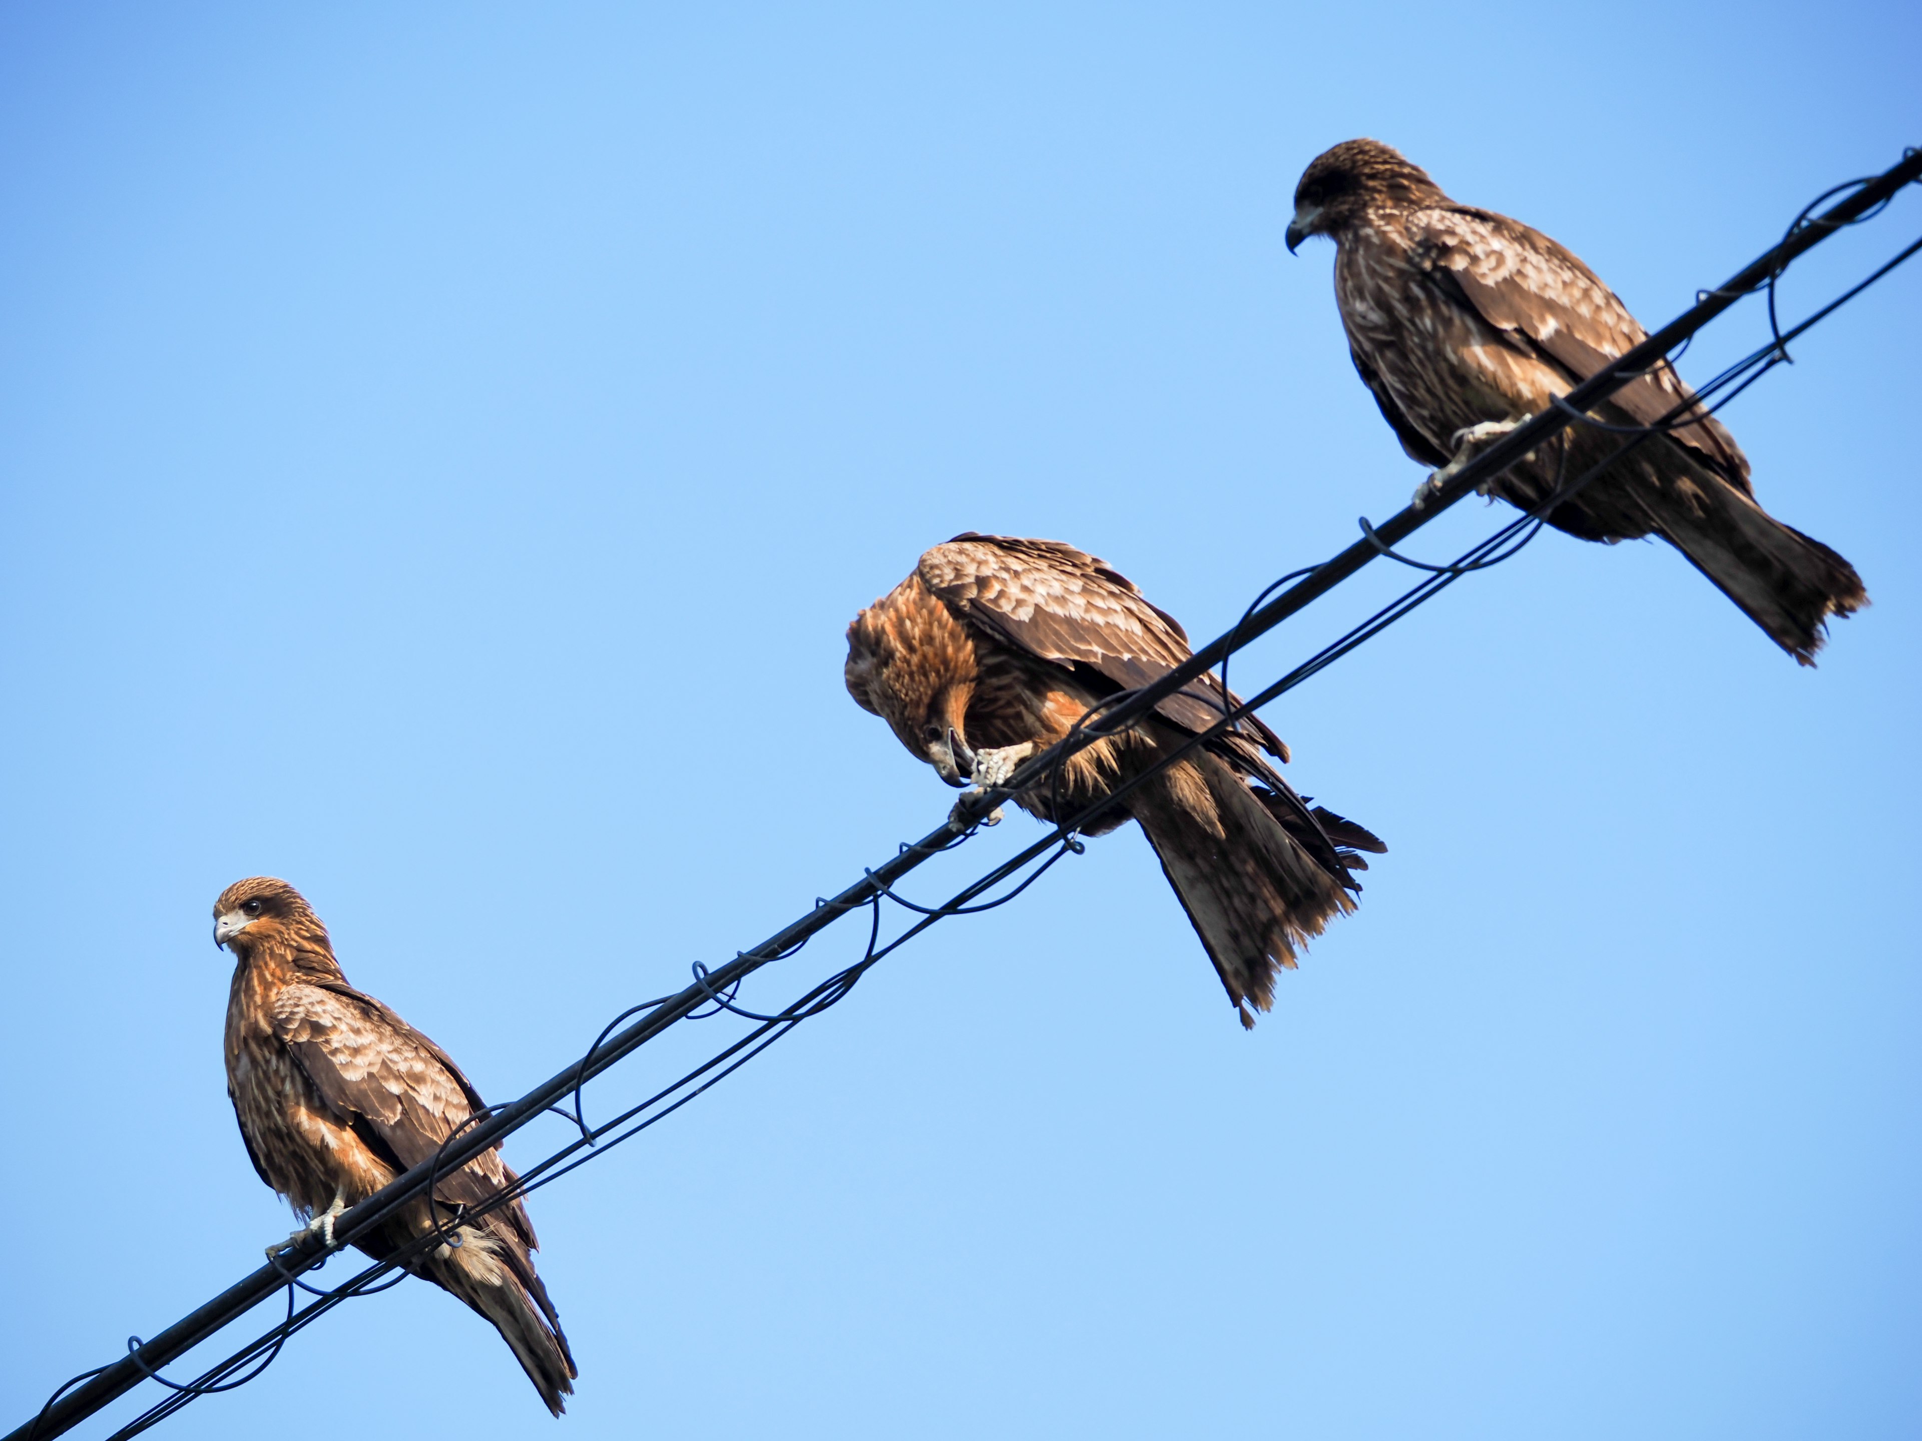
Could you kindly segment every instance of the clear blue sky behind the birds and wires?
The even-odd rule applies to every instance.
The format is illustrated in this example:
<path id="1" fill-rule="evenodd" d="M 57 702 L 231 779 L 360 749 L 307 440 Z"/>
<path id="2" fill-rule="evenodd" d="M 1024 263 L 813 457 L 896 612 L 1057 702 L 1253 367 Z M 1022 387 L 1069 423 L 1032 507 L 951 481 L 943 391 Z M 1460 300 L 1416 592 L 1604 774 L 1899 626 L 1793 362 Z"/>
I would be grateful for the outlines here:
<path id="1" fill-rule="evenodd" d="M 0 1424 L 290 1228 L 225 884 L 517 1095 L 944 813 L 840 680 L 923 548 L 1072 540 L 1207 636 L 1407 500 L 1282 250 L 1326 144 L 1653 323 L 1922 140 L 1916 54 L 1893 0 L 8 6 Z M 1661 546 L 1457 586 L 1269 715 L 1392 853 L 1253 1036 L 1128 830 L 540 1193 L 565 1433 L 1914 1435 L 1918 311 L 1912 267 L 1728 411 L 1874 596 L 1820 671 Z M 413 1282 L 169 1433 L 340 1408 L 561 1433 Z"/>

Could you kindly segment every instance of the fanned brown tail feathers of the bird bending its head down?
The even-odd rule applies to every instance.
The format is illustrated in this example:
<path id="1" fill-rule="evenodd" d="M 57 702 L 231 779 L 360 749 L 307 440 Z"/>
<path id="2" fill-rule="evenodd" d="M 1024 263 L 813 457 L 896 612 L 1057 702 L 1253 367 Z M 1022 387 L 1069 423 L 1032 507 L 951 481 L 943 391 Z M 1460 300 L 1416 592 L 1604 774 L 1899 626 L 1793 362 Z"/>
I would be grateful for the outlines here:
<path id="1" fill-rule="evenodd" d="M 1386 847 L 1332 813 L 1309 813 L 1294 792 L 1249 786 L 1207 751 L 1172 765 L 1138 795 L 1130 811 L 1242 1024 L 1251 1028 L 1249 1007 L 1267 1011 L 1274 1003 L 1276 968 L 1294 968 L 1311 936 L 1355 909 L 1353 882 L 1334 857 Z M 1326 822 L 1317 826 L 1322 815 L 1340 834 Z"/>

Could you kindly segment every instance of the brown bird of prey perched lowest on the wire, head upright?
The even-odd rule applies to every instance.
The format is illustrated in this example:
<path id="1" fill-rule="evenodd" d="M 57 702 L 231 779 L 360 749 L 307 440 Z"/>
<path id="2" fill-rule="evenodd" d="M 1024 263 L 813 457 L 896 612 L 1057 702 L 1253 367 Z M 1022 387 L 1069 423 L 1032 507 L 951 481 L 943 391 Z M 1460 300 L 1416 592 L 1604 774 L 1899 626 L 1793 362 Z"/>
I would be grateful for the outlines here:
<path id="1" fill-rule="evenodd" d="M 309 1216 L 300 1239 L 334 1243 L 334 1218 L 431 1160 L 486 1103 L 448 1059 L 371 995 L 348 986 L 327 926 L 284 880 L 238 880 L 213 903 L 213 943 L 234 953 L 227 997 L 227 1095 L 254 1170 Z M 448 1239 L 402 1264 L 492 1322 L 555 1416 L 573 1355 L 534 1272 L 534 1226 L 519 1201 L 467 1220 L 519 1176 L 484 1151 L 354 1245 L 375 1260 L 436 1228 Z M 284 1245 L 284 1243 L 281 1243 Z M 281 1245 L 269 1247 L 269 1255 Z"/>

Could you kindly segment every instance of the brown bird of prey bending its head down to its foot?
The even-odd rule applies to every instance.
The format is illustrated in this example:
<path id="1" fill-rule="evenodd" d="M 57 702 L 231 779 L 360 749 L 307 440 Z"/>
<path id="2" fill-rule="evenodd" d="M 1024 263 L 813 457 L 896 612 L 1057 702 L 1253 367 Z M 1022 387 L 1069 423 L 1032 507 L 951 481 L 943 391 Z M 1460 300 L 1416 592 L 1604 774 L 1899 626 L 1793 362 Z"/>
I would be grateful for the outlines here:
<path id="1" fill-rule="evenodd" d="M 955 536 L 848 626 L 848 692 L 949 786 L 1003 784 L 1092 705 L 1190 655 L 1180 623 L 1103 561 L 1057 540 Z M 1205 676 L 1132 728 L 1076 751 L 1015 801 L 1072 820 L 1240 701 Z M 1253 715 L 1195 745 L 1082 826 L 1142 822 L 1244 1026 L 1274 1001 L 1276 966 L 1355 909 L 1374 836 L 1309 809 L 1265 755 L 1288 747 Z"/>

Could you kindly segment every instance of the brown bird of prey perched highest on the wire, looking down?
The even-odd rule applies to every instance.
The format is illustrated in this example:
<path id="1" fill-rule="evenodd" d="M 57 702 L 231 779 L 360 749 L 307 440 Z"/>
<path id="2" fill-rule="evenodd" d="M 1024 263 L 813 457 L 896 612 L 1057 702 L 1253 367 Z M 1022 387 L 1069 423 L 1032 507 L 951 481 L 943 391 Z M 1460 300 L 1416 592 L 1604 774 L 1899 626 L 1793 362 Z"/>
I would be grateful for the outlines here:
<path id="1" fill-rule="evenodd" d="M 1288 250 L 1336 242 L 1334 292 L 1355 369 L 1401 448 L 1449 467 L 1555 403 L 1647 332 L 1595 273 L 1540 231 L 1459 206 L 1428 173 L 1376 140 L 1318 156 L 1295 186 Z M 1755 503 L 1734 436 L 1659 363 L 1593 417 L 1666 434 L 1616 459 L 1547 521 L 1582 540 L 1661 536 L 1803 665 L 1830 615 L 1868 603 L 1855 569 Z M 1576 423 L 1493 482 L 1534 509 L 1609 459 L 1620 432 Z M 1453 459 L 1451 459 L 1453 457 Z M 1415 503 L 1453 475 L 1440 471 Z"/>

